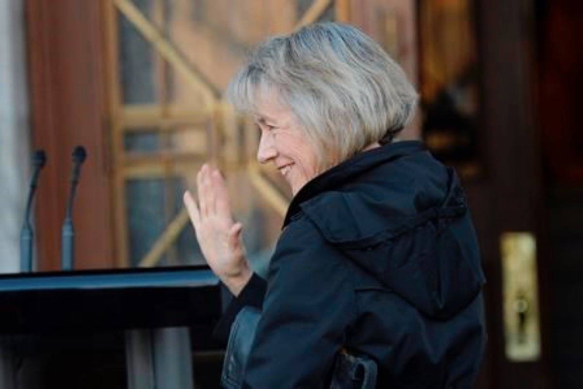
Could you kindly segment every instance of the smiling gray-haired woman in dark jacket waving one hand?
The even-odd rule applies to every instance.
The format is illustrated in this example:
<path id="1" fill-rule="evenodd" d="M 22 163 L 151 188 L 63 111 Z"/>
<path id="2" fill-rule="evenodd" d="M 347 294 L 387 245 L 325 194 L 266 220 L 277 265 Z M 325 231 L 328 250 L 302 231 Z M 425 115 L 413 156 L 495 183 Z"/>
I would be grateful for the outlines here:
<path id="1" fill-rule="evenodd" d="M 293 199 L 264 281 L 219 171 L 199 171 L 198 204 L 185 194 L 202 253 L 236 296 L 217 327 L 231 331 L 223 384 L 326 387 L 348 353 L 374 361 L 377 387 L 471 386 L 485 339 L 479 250 L 455 173 L 393 140 L 417 101 L 401 68 L 356 28 L 315 24 L 263 43 L 228 95 L 254 115 L 258 160 Z"/>

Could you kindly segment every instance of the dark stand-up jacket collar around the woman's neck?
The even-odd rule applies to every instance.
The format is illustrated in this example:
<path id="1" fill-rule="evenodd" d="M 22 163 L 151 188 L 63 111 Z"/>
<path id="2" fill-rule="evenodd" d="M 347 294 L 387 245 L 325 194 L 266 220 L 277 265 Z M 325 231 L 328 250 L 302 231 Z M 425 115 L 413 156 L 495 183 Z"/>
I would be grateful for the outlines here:
<path id="1" fill-rule="evenodd" d="M 331 167 L 308 181 L 293 199 L 291 199 L 282 228 L 285 228 L 291 219 L 300 212 L 300 205 L 303 202 L 316 197 L 322 192 L 337 188 L 346 181 L 359 176 L 359 174 L 373 169 L 375 166 L 391 162 L 392 160 L 411 155 L 424 149 L 423 143 L 420 141 L 388 143 L 387 145 L 359 153 Z"/>

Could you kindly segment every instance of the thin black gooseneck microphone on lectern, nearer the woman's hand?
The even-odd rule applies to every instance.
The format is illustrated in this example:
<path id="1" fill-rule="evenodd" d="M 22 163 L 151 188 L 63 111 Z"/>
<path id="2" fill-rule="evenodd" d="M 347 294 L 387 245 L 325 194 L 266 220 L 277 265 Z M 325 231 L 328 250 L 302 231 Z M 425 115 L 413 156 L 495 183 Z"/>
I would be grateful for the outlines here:
<path id="1" fill-rule="evenodd" d="M 65 209 L 65 222 L 61 229 L 61 265 L 63 270 L 72 270 L 73 261 L 75 260 L 75 232 L 73 231 L 73 199 L 79 183 L 79 174 L 81 165 L 85 162 L 87 153 L 83 146 L 77 146 L 73 150 L 73 170 L 71 172 L 71 191 L 67 199 Z"/>

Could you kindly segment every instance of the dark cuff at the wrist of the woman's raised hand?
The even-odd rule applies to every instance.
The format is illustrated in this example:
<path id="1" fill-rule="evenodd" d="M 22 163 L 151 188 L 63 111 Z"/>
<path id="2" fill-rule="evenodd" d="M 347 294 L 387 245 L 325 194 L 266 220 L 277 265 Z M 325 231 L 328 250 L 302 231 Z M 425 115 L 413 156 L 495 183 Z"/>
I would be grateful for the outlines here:
<path id="1" fill-rule="evenodd" d="M 245 285 L 237 297 L 234 297 L 233 300 L 231 300 L 231 303 L 224 311 L 223 316 L 215 325 L 213 338 L 223 344 L 227 344 L 229 333 L 231 332 L 231 325 L 239 311 L 245 306 L 251 306 L 261 310 L 266 289 L 267 282 L 256 273 L 253 273 L 249 282 L 247 282 L 247 285 Z"/>

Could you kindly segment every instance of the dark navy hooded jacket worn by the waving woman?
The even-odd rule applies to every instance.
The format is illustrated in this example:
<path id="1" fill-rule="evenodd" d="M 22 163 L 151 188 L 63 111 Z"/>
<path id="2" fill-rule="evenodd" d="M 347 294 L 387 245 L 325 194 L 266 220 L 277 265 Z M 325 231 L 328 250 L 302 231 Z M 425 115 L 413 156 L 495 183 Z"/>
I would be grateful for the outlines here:
<path id="1" fill-rule="evenodd" d="M 345 348 L 377 362 L 379 388 L 466 388 L 486 339 L 483 283 L 454 171 L 420 142 L 390 143 L 297 193 L 266 285 L 254 276 L 216 333 L 261 309 L 243 387 L 326 387 Z"/>

